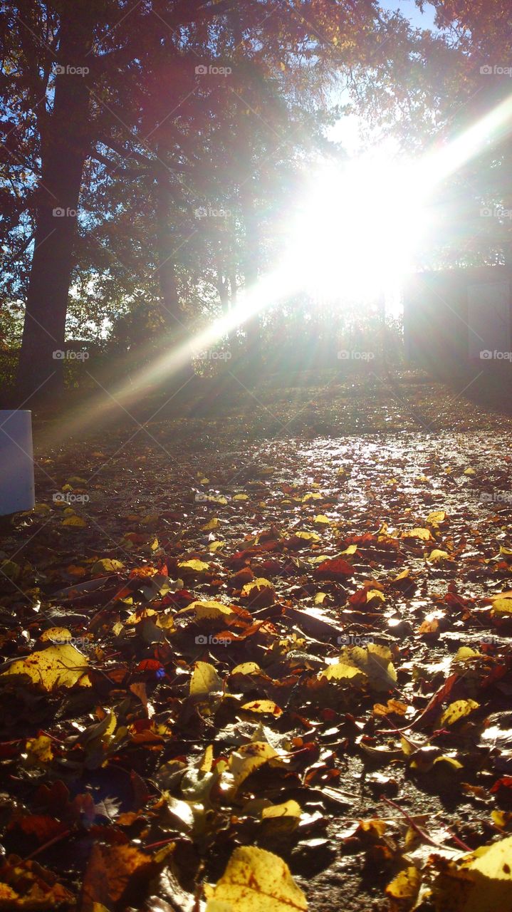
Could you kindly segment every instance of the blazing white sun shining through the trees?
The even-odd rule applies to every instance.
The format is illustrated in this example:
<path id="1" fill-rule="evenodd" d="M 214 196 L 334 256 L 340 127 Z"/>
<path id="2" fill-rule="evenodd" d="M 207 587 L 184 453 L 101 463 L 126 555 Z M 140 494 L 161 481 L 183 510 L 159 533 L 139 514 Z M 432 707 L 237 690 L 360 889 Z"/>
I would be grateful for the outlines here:
<path id="1" fill-rule="evenodd" d="M 413 268 L 427 217 L 415 169 L 373 155 L 319 167 L 288 232 L 288 268 L 312 298 L 394 293 Z"/>

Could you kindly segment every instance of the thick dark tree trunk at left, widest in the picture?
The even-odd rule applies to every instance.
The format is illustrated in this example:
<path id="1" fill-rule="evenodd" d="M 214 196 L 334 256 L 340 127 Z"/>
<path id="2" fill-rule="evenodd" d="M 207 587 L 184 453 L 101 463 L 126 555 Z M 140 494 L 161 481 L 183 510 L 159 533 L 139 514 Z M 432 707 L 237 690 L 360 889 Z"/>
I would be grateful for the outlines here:
<path id="1" fill-rule="evenodd" d="M 49 400 L 63 388 L 78 198 L 90 150 L 87 75 L 67 70 L 87 66 L 92 43 L 87 6 L 87 0 L 63 5 L 58 58 L 65 71 L 56 76 L 53 111 L 41 130 L 42 177 L 15 389 L 20 402 Z"/>

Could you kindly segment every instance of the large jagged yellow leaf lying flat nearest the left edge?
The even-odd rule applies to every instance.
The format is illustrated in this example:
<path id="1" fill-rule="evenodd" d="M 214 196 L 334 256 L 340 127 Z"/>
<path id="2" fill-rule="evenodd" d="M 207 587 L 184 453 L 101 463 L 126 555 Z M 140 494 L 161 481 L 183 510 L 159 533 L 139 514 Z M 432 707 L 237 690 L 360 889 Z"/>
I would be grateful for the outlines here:
<path id="1" fill-rule="evenodd" d="M 4 675 L 28 675 L 44 690 L 57 687 L 73 687 L 78 682 L 90 687 L 85 677 L 87 658 L 74 646 L 49 646 L 40 652 L 33 652 L 26 658 L 19 658 L 3 672 Z"/>

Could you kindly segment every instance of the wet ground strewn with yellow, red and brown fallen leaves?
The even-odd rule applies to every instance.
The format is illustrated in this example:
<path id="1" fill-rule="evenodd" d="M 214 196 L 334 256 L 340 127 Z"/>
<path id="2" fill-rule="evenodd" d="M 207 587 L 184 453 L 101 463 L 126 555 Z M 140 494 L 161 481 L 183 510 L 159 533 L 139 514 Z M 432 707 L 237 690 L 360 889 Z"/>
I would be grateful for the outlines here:
<path id="1" fill-rule="evenodd" d="M 0 908 L 191 912 L 238 845 L 312 912 L 410 908 L 415 865 L 422 909 L 466 908 L 443 866 L 512 832 L 512 423 L 460 389 L 36 420 L 0 544 Z"/>

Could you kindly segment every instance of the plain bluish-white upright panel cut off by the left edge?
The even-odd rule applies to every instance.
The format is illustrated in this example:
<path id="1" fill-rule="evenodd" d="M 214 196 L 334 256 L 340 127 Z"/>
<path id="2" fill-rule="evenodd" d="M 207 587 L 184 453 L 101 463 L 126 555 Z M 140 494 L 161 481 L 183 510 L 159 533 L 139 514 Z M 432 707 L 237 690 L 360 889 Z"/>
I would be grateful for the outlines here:
<path id="1" fill-rule="evenodd" d="M 34 507 L 32 413 L 0 409 L 0 516 Z"/>

